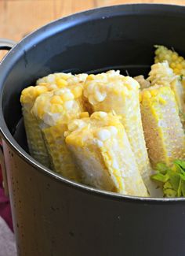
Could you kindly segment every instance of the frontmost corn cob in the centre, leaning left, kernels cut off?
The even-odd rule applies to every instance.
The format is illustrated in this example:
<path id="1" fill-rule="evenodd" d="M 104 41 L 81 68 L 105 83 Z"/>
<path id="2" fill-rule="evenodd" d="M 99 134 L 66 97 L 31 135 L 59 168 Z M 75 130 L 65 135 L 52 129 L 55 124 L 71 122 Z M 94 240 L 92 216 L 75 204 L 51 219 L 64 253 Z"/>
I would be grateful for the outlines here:
<path id="1" fill-rule="evenodd" d="M 120 117 L 96 112 L 69 122 L 66 143 L 82 169 L 82 182 L 125 195 L 147 196 Z"/>

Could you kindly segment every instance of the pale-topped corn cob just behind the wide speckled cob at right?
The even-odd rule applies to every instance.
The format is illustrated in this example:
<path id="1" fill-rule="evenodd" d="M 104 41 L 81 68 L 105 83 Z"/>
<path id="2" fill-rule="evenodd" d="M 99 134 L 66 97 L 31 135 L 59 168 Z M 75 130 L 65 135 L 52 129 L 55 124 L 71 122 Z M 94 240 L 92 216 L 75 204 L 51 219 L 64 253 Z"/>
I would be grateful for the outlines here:
<path id="1" fill-rule="evenodd" d="M 151 82 L 151 85 L 158 84 L 171 87 L 176 97 L 180 112 L 185 112 L 183 86 L 180 83 L 180 77 L 176 76 L 172 69 L 169 68 L 168 61 L 152 65 L 147 80 Z"/>

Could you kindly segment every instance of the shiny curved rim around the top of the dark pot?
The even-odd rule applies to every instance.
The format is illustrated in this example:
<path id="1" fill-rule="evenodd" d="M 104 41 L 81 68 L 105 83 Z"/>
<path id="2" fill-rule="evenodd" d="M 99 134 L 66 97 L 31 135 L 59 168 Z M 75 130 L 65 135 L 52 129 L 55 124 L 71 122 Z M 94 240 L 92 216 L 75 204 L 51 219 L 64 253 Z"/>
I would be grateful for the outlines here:
<path id="1" fill-rule="evenodd" d="M 38 39 L 38 37 L 41 37 L 42 39 L 46 39 L 47 37 L 53 35 L 55 32 L 60 32 L 61 30 L 65 30 L 67 28 L 71 28 L 71 26 L 75 24 L 79 24 L 82 22 L 85 22 L 89 19 L 90 20 L 96 19 L 96 18 L 109 18 L 122 15 L 122 10 L 127 11 L 125 15 L 130 14 L 138 14 L 142 15 L 143 12 L 152 13 L 153 15 L 157 13 L 161 14 L 167 14 L 167 15 L 185 15 L 185 6 L 177 6 L 177 5 L 170 5 L 170 4 L 153 4 L 153 3 L 147 3 L 147 4 L 125 4 L 125 5 L 118 5 L 118 6 L 105 6 L 100 7 L 96 9 L 89 9 L 83 12 L 74 13 L 70 16 L 63 17 L 57 20 L 53 20 L 49 24 L 45 24 L 41 28 L 38 28 L 34 32 L 31 32 L 31 34 L 27 35 L 20 41 L 20 43 L 17 43 L 16 46 L 13 46 L 13 49 L 9 51 L 9 53 L 5 56 L 5 58 L 2 59 L 2 62 L 0 63 L 0 72 L 2 76 L 0 77 L 0 132 L 2 135 L 2 138 L 5 139 L 5 142 L 9 144 L 9 146 L 13 149 L 16 154 L 20 156 L 24 161 L 27 161 L 29 165 L 32 165 L 37 171 L 42 172 L 45 175 L 49 175 L 53 177 L 56 180 L 62 181 L 63 183 L 73 187 L 78 188 L 82 191 L 86 191 L 89 193 L 93 193 L 95 195 L 100 195 L 107 198 L 114 198 L 114 199 L 125 199 L 129 201 L 137 201 L 137 202 L 183 202 L 185 201 L 185 198 L 145 198 L 145 197 L 139 197 L 139 196 L 130 196 L 130 195 L 121 195 L 118 193 L 110 192 L 110 191 L 103 191 L 100 189 L 96 189 L 94 187 L 89 187 L 84 184 L 78 184 L 74 181 L 68 180 L 67 178 L 63 178 L 58 173 L 53 172 L 52 170 L 46 168 L 42 164 L 40 164 L 38 161 L 34 160 L 27 152 L 20 147 L 18 143 L 16 143 L 16 140 L 13 138 L 13 135 L 9 132 L 9 128 L 5 124 L 4 114 L 2 111 L 2 98 L 3 98 L 3 89 L 4 89 L 4 81 L 5 81 L 5 73 L 8 73 L 11 68 L 13 68 L 13 65 L 11 66 L 11 60 L 12 58 L 17 59 L 20 56 L 20 52 L 25 51 L 25 46 L 33 47 L 35 39 Z M 49 30 L 50 29 L 50 30 Z M 48 33 L 49 30 L 49 33 Z M 46 33 L 47 31 L 47 33 Z M 31 42 L 32 41 L 32 42 Z M 31 43 L 30 43 L 31 42 Z M 8 65 L 7 65 L 8 64 Z M 9 68 L 7 67 L 9 66 Z M 6 70 L 6 72 L 5 72 Z"/>

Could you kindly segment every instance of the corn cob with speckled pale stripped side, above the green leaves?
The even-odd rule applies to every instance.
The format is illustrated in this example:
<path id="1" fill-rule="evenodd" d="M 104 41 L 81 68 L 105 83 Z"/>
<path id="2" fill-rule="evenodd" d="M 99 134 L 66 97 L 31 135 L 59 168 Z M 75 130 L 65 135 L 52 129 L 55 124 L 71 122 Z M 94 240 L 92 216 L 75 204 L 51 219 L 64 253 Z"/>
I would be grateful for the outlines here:
<path id="1" fill-rule="evenodd" d="M 140 95 L 143 130 L 153 165 L 184 159 L 184 132 L 170 87 L 155 85 Z"/>

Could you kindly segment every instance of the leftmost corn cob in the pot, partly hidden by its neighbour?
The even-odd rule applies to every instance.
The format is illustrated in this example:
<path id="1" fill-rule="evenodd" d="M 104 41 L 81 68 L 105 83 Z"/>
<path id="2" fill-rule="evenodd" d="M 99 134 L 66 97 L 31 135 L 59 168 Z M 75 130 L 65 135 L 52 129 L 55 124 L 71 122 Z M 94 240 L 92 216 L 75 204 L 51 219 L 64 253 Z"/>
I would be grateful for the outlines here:
<path id="1" fill-rule="evenodd" d="M 44 86 L 27 87 L 20 96 L 20 102 L 22 105 L 22 112 L 24 116 L 24 127 L 27 134 L 27 145 L 31 156 L 49 167 L 48 152 L 45 147 L 44 140 L 42 138 L 42 132 L 38 127 L 38 121 L 31 113 L 31 108 L 34 105 L 35 99 L 45 93 L 48 89 Z"/>

